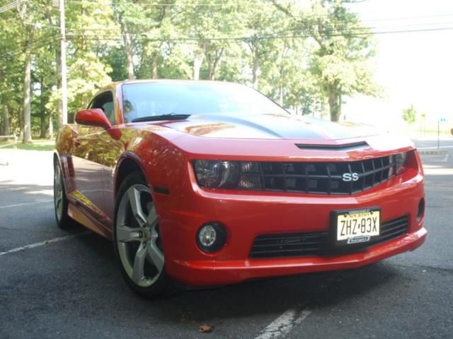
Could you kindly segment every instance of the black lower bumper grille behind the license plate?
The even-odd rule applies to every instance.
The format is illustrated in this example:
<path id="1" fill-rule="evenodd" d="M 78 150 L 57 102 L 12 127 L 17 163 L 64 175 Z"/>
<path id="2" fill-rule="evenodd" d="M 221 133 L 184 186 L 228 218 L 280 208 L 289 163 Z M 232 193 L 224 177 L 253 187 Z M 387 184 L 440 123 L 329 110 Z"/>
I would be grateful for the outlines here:
<path id="1" fill-rule="evenodd" d="M 372 244 L 364 244 L 364 247 L 388 242 L 391 239 L 401 237 L 407 232 L 407 215 L 383 222 L 381 225 L 381 237 Z M 354 250 L 357 251 L 357 246 L 354 247 Z M 321 256 L 323 253 L 332 254 L 332 251 L 329 251 L 328 232 L 261 234 L 253 241 L 249 258 Z"/>

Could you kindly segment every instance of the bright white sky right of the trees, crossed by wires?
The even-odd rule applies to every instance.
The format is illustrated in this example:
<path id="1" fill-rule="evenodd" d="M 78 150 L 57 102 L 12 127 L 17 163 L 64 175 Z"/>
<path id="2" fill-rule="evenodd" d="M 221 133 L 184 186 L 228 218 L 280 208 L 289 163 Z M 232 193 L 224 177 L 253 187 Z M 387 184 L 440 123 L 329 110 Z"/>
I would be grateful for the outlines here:
<path id="1" fill-rule="evenodd" d="M 365 0 L 349 7 L 374 32 L 430 31 L 375 35 L 374 66 L 384 98 L 348 98 L 346 119 L 398 129 L 403 109 L 414 105 L 425 112 L 425 124 L 445 117 L 444 127 L 453 127 L 453 1 Z"/>

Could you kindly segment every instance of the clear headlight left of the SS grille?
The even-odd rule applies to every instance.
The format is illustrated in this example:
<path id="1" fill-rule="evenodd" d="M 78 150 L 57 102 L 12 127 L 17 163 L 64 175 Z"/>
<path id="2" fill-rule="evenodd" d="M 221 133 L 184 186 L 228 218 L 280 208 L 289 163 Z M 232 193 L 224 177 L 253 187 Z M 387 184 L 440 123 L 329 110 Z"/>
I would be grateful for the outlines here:
<path id="1" fill-rule="evenodd" d="M 200 186 L 231 189 L 239 180 L 239 162 L 194 160 L 195 176 Z"/>

